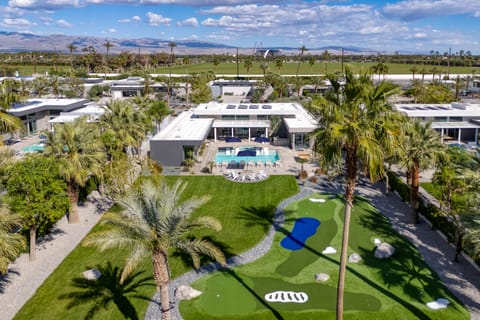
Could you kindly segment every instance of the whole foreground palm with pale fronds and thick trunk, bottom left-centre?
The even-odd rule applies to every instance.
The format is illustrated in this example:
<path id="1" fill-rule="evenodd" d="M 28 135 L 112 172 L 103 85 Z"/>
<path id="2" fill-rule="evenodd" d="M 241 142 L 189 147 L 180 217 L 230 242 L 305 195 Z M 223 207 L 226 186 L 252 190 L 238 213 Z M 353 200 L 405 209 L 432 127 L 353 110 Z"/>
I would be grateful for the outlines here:
<path id="1" fill-rule="evenodd" d="M 121 215 L 111 215 L 102 220 L 103 225 L 112 228 L 97 231 L 84 241 L 84 245 L 96 246 L 101 251 L 110 248 L 131 250 L 125 260 L 121 282 L 146 257 L 150 257 L 160 293 L 163 320 L 170 319 L 172 304 L 169 293 L 169 252 L 186 252 L 192 258 L 195 268 L 200 267 L 201 255 L 207 255 L 225 265 L 225 256 L 218 247 L 206 239 L 194 236 L 198 229 L 221 229 L 218 220 L 212 217 L 190 219 L 191 213 L 208 198 L 192 197 L 181 201 L 185 188 L 186 184 L 181 180 L 177 180 L 173 186 L 169 186 L 165 180 L 159 183 L 145 180 L 138 190 L 119 201 L 124 208 Z"/>

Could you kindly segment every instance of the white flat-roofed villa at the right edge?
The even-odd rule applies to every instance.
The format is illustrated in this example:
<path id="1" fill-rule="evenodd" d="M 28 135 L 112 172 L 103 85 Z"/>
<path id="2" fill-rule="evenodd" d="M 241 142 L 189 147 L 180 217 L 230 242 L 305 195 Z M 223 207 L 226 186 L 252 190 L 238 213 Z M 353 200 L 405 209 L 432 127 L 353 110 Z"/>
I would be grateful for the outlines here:
<path id="1" fill-rule="evenodd" d="M 395 104 L 394 109 L 409 118 L 432 121 L 443 142 L 478 144 L 480 104 L 452 102 L 451 104 Z"/>

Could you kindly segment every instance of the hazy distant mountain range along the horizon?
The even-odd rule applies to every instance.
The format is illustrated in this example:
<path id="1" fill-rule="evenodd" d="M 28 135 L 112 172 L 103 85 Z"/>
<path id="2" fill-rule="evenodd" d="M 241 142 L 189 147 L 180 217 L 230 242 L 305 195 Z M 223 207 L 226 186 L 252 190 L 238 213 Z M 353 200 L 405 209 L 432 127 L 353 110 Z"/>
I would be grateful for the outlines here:
<path id="1" fill-rule="evenodd" d="M 93 46 L 97 51 L 104 52 L 106 48 L 103 44 L 109 41 L 112 46 L 110 53 L 120 53 L 122 51 L 139 50 L 142 53 L 170 52 L 168 46 L 169 40 L 154 38 L 137 39 L 117 39 L 94 36 L 68 36 L 60 34 L 35 35 L 31 33 L 6 32 L 0 31 L 0 51 L 1 52 L 22 52 L 22 51 L 61 51 L 69 52 L 67 46 L 73 44 L 77 47 L 76 52 L 81 52 L 83 48 Z M 237 48 L 220 43 L 197 41 L 197 40 L 175 40 L 175 52 L 177 54 L 235 54 Z M 268 47 L 269 49 L 279 49 L 285 55 L 298 54 L 299 49 L 293 47 Z M 376 51 L 367 48 L 345 47 L 345 54 L 377 54 Z M 310 54 L 320 54 L 328 50 L 330 54 L 340 54 L 342 47 L 329 46 L 321 48 L 308 48 Z M 238 48 L 241 54 L 251 54 L 255 48 Z"/>

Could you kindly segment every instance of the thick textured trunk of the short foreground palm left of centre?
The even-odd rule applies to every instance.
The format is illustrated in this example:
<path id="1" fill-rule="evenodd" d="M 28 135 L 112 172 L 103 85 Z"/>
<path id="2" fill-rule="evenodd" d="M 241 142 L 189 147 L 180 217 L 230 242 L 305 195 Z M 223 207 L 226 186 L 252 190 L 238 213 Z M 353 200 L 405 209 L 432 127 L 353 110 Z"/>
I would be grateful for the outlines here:
<path id="1" fill-rule="evenodd" d="M 155 250 L 152 255 L 153 277 L 160 293 L 160 305 L 162 311 L 162 320 L 170 320 L 170 270 L 168 267 L 168 257 L 166 252 Z"/>

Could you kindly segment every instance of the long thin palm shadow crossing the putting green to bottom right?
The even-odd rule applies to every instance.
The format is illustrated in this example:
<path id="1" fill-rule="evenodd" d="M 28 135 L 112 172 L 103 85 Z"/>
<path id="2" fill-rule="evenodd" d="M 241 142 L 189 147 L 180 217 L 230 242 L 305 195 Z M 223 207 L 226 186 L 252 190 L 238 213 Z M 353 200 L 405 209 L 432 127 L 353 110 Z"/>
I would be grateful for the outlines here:
<path id="1" fill-rule="evenodd" d="M 333 199 L 333 198 L 342 198 L 342 196 L 331 196 L 330 199 Z M 355 198 L 355 202 L 354 202 L 354 205 L 358 205 L 360 204 L 361 201 L 368 201 L 362 197 L 357 197 Z M 369 209 L 366 209 L 366 210 L 369 210 Z M 374 210 L 374 209 L 372 209 Z M 290 235 L 290 231 L 288 231 L 287 229 L 285 229 L 284 227 L 281 226 L 281 224 L 277 223 L 277 221 L 281 221 L 281 219 L 276 219 L 276 217 L 272 218 L 272 216 L 268 215 L 267 212 L 269 211 L 266 211 L 265 209 L 263 208 L 259 208 L 259 209 L 256 209 L 256 208 L 244 208 L 244 214 L 242 215 L 242 218 L 243 219 L 249 219 L 251 218 L 251 221 L 252 223 L 262 223 L 262 224 L 265 224 L 266 223 L 270 223 L 270 225 L 273 225 L 275 227 L 275 229 L 278 231 L 278 232 L 281 232 L 283 233 L 285 236 L 289 236 Z M 294 211 L 283 211 L 282 214 L 283 216 L 289 216 L 293 213 Z M 296 219 L 289 219 L 289 220 L 286 220 L 286 221 L 294 221 Z M 266 226 L 265 226 L 266 227 Z M 391 229 L 391 226 L 389 226 L 389 229 Z M 400 235 L 396 234 L 396 233 L 392 233 L 392 237 L 399 237 Z M 292 239 L 295 241 L 295 239 Z M 312 248 L 311 246 L 307 245 L 307 244 L 304 244 L 302 242 L 302 245 L 303 247 L 306 249 L 306 250 L 309 250 L 311 251 L 312 253 L 316 254 L 318 257 L 328 261 L 328 262 L 331 262 L 331 263 L 334 263 L 336 264 L 337 266 L 340 265 L 339 261 L 331 258 L 331 257 L 328 257 L 326 255 L 324 255 L 323 253 L 321 253 L 320 251 L 316 250 L 315 248 Z M 382 286 L 378 285 L 377 283 L 375 283 L 374 281 L 368 279 L 366 276 L 362 275 L 360 272 L 352 269 L 351 267 L 347 266 L 347 271 L 349 273 L 351 273 L 352 275 L 356 276 L 358 279 L 364 281 L 367 285 L 369 285 L 370 287 L 374 288 L 375 290 L 381 292 L 382 294 L 384 294 L 385 296 L 389 297 L 390 299 L 396 301 L 397 303 L 399 303 L 400 305 L 404 306 L 406 309 L 410 310 L 410 312 L 412 312 L 412 314 L 414 314 L 418 319 L 422 319 L 422 320 L 428 320 L 430 319 L 430 317 L 425 314 L 422 310 L 418 309 L 417 307 L 415 307 L 414 305 L 412 305 L 411 303 L 409 303 L 408 301 L 402 299 L 401 297 L 395 295 L 394 293 L 392 293 L 390 290 L 388 289 L 385 289 L 383 288 Z"/>

